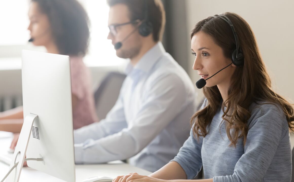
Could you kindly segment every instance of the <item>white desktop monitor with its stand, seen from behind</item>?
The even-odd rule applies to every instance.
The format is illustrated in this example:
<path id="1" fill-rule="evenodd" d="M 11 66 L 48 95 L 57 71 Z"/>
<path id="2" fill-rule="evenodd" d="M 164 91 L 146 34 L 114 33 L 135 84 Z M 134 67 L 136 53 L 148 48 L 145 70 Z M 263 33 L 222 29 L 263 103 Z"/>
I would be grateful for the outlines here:
<path id="1" fill-rule="evenodd" d="M 27 161 L 27 164 L 56 178 L 74 182 L 69 56 L 23 50 L 22 89 L 25 121 L 14 155 L 42 158 L 43 161 Z M 27 124 L 26 120 L 32 123 Z M 26 144 L 26 151 L 19 149 Z M 21 162 L 22 158 L 18 160 Z M 18 165 L 22 167 L 22 163 Z M 21 167 L 17 167 L 20 171 L 17 173 L 16 168 L 16 173 L 8 176 L 9 182 L 18 181 Z"/>

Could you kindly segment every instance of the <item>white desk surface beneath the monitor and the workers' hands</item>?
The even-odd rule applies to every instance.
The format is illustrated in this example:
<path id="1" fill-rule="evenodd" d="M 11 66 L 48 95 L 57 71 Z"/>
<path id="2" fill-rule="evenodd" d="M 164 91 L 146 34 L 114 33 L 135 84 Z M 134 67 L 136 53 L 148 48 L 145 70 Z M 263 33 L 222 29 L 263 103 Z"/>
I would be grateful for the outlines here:
<path id="1" fill-rule="evenodd" d="M 0 132 L 0 153 L 7 152 L 11 143 L 11 133 Z M 0 162 L 0 180 L 8 172 L 9 166 Z M 107 176 L 115 178 L 116 176 L 126 175 L 131 172 L 137 172 L 141 175 L 149 175 L 151 172 L 122 163 L 121 161 L 114 161 L 109 164 L 97 165 L 76 165 L 76 182 L 81 182 L 86 178 L 93 176 Z M 58 178 L 50 176 L 40 171 L 36 171 L 29 167 L 24 167 L 21 171 L 20 182 L 64 182 Z"/>

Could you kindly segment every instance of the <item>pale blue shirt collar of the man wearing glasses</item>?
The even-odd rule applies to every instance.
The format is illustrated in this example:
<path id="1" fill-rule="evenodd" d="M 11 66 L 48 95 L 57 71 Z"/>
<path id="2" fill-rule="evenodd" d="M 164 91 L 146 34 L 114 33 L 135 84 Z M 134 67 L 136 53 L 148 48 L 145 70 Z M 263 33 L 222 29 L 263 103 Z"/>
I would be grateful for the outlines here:
<path id="1" fill-rule="evenodd" d="M 148 73 L 158 59 L 165 53 L 165 49 L 161 42 L 156 43 L 150 50 L 148 50 L 139 60 L 135 67 L 129 63 L 126 67 L 126 74 L 130 74 L 133 69 Z"/>

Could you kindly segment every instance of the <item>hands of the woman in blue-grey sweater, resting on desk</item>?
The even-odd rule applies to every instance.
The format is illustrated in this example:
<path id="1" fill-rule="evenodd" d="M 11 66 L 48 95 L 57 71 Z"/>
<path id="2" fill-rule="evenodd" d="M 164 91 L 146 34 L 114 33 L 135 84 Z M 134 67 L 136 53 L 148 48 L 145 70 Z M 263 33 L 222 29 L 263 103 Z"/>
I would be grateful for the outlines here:
<path id="1" fill-rule="evenodd" d="M 151 178 L 149 176 L 142 176 L 138 173 L 130 173 L 126 176 L 117 176 L 112 182 L 164 182 L 166 180 Z"/>

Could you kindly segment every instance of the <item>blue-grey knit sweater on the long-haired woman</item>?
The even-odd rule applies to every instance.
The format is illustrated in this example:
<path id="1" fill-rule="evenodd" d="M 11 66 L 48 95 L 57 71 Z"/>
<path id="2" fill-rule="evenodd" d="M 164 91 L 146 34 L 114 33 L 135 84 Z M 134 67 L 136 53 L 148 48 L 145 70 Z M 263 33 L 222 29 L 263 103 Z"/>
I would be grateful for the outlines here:
<path id="1" fill-rule="evenodd" d="M 206 104 L 206 101 L 203 105 Z M 184 169 L 187 179 L 193 179 L 203 166 L 205 178 L 214 182 L 290 182 L 292 172 L 291 147 L 287 120 L 280 107 L 274 104 L 250 106 L 248 135 L 236 147 L 230 147 L 221 124 L 223 111 L 219 108 L 208 134 L 199 142 L 190 137 L 172 160 Z"/>

